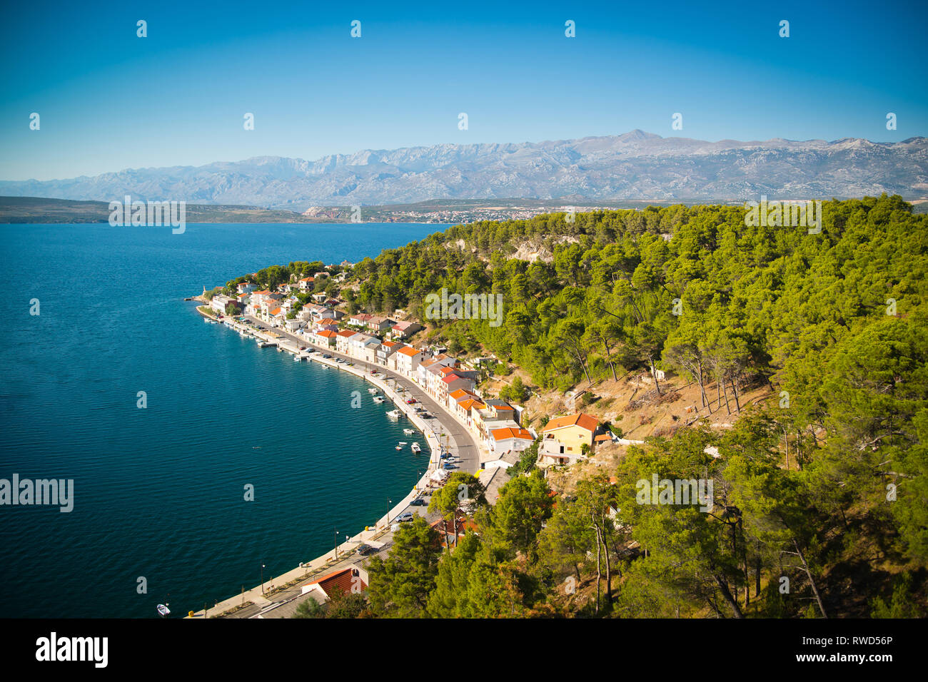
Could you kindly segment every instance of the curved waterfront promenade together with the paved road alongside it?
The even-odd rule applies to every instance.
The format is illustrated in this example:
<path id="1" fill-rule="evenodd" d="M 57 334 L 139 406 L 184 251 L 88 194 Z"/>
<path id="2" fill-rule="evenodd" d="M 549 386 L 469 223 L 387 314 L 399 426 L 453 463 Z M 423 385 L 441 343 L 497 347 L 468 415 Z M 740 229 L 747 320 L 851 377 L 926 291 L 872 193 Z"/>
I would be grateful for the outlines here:
<path id="1" fill-rule="evenodd" d="M 203 313 L 198 309 L 200 315 Z M 213 315 L 204 315 L 215 320 Z M 416 483 L 416 486 L 409 492 L 406 497 L 393 506 L 383 517 L 376 522 L 374 526 L 367 527 L 366 530 L 350 537 L 346 542 L 338 547 L 333 547 L 326 554 L 303 563 L 300 566 L 290 570 L 287 573 L 276 577 L 269 577 L 264 580 L 262 585 L 257 585 L 249 590 L 244 590 L 241 594 L 232 598 L 227 598 L 208 609 L 195 611 L 193 618 L 205 617 L 231 617 L 231 618 L 268 618 L 277 617 L 279 613 L 290 614 L 293 610 L 293 603 L 301 597 L 303 585 L 307 585 L 326 573 L 332 573 L 344 568 L 349 568 L 355 564 L 366 562 L 367 558 L 359 556 L 355 549 L 362 543 L 370 543 L 377 547 L 380 553 L 389 551 L 393 545 L 393 531 L 391 526 L 393 520 L 404 511 L 412 511 L 421 516 L 428 516 L 425 507 L 412 507 L 410 503 L 421 493 L 434 486 L 431 476 L 432 472 L 441 466 L 439 458 L 442 447 L 444 446 L 450 454 L 458 458 L 458 470 L 469 473 L 477 473 L 480 469 L 481 452 L 473 435 L 467 428 L 452 415 L 445 406 L 438 403 L 431 395 L 424 392 L 417 383 L 401 374 L 393 372 L 380 365 L 371 366 L 367 363 L 357 363 L 354 358 L 347 355 L 336 353 L 335 351 L 316 346 L 308 339 L 296 336 L 279 328 L 270 328 L 263 321 L 254 317 L 247 316 L 246 319 L 254 325 L 255 328 L 243 325 L 235 320 L 229 320 L 227 327 L 238 333 L 248 334 L 255 339 L 277 343 L 277 348 L 283 352 L 297 355 L 309 362 L 316 362 L 327 367 L 341 369 L 342 371 L 354 374 L 367 380 L 384 395 L 384 397 L 393 401 L 393 403 L 404 412 L 406 419 L 412 426 L 415 426 L 425 436 L 426 443 L 430 450 L 429 466 Z M 268 332 L 273 332 L 277 336 L 271 336 Z M 300 347 L 313 348 L 316 353 L 306 354 L 300 351 Z M 271 349 L 263 349 L 264 352 L 271 352 Z M 331 358 L 323 358 L 321 354 L 330 354 Z M 347 363 L 337 363 L 336 357 L 342 357 L 347 362 L 353 363 L 349 366 Z M 380 373 L 384 378 L 374 377 L 371 373 L 374 370 Z M 431 418 L 421 418 L 416 414 L 413 405 L 406 404 L 407 398 L 415 398 L 430 413 Z M 435 517 L 437 519 L 437 516 Z M 432 521 L 432 519 L 430 519 Z M 276 611 L 276 612 L 275 612 Z M 188 616 L 190 617 L 190 616 Z"/>

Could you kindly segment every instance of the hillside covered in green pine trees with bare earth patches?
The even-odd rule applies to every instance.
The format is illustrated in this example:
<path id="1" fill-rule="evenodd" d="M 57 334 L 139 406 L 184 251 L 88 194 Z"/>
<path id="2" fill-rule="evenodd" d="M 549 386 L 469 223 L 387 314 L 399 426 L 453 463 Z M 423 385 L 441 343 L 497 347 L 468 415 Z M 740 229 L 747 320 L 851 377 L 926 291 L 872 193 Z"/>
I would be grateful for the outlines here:
<path id="1" fill-rule="evenodd" d="M 526 242 L 543 257 L 514 257 Z M 544 477 L 523 458 L 479 534 L 434 558 L 426 606 L 388 561 L 372 612 L 924 615 L 926 274 L 928 217 L 886 196 L 826 202 L 818 234 L 723 206 L 561 213 L 356 264 L 353 307 L 402 307 L 452 354 L 495 355 L 484 394 L 535 428 L 583 410 L 645 441 Z M 442 288 L 498 293 L 502 324 L 429 319 Z M 715 506 L 642 504 L 652 478 L 712 483 Z"/>

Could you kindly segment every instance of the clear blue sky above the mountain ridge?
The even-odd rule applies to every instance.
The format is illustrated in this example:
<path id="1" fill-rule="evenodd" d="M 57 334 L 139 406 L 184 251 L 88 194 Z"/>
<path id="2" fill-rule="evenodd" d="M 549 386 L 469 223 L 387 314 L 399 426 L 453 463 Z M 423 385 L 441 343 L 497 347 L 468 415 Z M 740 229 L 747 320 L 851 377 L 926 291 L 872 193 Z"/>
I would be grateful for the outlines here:
<path id="1" fill-rule="evenodd" d="M 0 179 L 636 128 L 707 140 L 928 135 L 923 0 L 336 5 L 8 4 Z"/>

